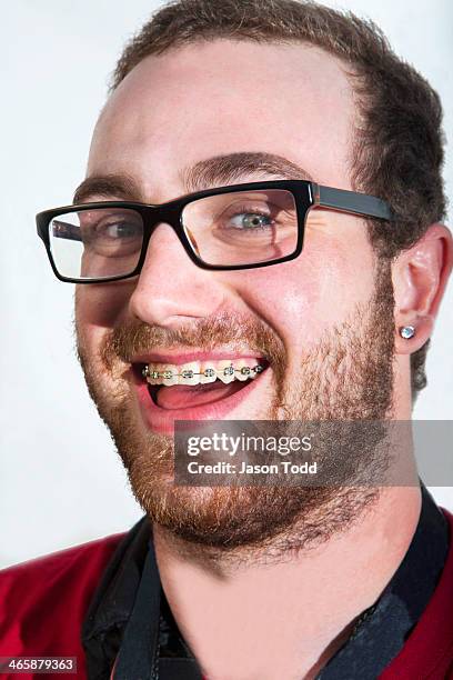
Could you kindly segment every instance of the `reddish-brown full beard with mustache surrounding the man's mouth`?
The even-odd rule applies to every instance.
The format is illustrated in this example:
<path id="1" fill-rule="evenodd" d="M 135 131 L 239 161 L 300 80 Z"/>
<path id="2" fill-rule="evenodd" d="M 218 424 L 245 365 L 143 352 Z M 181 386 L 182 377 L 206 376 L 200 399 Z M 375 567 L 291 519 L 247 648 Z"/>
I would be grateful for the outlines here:
<path id="1" fill-rule="evenodd" d="M 379 260 L 372 299 L 308 348 L 288 373 L 282 339 L 256 318 L 220 314 L 169 330 L 133 322 L 109 330 L 99 353 L 88 351 L 81 328 L 77 347 L 87 386 L 110 429 L 132 492 L 179 549 L 211 561 L 256 562 L 311 548 L 349 529 L 380 497 L 355 483 L 359 469 L 382 471 L 385 450 L 365 442 L 351 452 L 342 486 L 182 487 L 173 483 L 173 438 L 145 428 L 134 404 L 130 360 L 155 349 L 210 351 L 236 343 L 258 351 L 273 373 L 273 399 L 261 420 L 382 421 L 391 417 L 394 320 L 390 263 Z M 129 376 L 129 378 L 128 378 Z M 323 453 L 334 462 L 335 447 Z M 202 551 L 200 552 L 200 549 Z"/>

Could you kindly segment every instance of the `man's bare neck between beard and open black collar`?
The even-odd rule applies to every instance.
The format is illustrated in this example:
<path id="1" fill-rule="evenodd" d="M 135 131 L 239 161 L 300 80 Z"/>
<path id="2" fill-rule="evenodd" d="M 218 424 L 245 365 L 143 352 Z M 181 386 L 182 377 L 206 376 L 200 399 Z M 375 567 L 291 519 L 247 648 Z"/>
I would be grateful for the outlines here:
<path id="1" fill-rule="evenodd" d="M 268 547 L 213 562 L 154 526 L 162 587 L 209 680 L 225 669 L 241 680 L 314 678 L 391 580 L 420 510 L 419 487 L 380 489 L 345 530 L 276 560 Z"/>

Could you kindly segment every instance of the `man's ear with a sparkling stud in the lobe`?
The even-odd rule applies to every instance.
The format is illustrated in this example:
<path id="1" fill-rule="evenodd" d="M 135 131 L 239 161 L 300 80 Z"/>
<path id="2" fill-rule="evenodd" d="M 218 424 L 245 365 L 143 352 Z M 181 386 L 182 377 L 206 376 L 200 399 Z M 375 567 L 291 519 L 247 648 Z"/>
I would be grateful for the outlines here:
<path id="1" fill-rule="evenodd" d="M 429 227 L 423 237 L 393 262 L 397 354 L 412 354 L 430 338 L 452 267 L 452 234 L 443 224 Z M 407 340 L 401 337 L 401 329 L 406 326 L 415 329 Z"/>

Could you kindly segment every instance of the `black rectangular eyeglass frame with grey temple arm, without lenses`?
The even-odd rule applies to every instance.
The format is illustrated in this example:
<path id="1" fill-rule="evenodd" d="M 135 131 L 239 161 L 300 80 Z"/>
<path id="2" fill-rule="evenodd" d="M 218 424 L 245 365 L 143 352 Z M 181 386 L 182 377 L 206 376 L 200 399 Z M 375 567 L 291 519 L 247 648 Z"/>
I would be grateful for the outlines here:
<path id="1" fill-rule="evenodd" d="M 298 217 L 298 241 L 294 251 L 291 254 L 276 258 L 275 260 L 266 260 L 252 264 L 209 264 L 208 262 L 204 262 L 204 260 L 202 260 L 194 251 L 193 246 L 190 243 L 190 239 L 184 231 L 184 226 L 182 222 L 182 212 L 184 208 L 193 201 L 208 198 L 210 196 L 268 189 L 285 190 L 293 196 Z M 46 246 L 48 258 L 57 279 L 66 283 L 77 283 L 83 286 L 88 283 L 111 283 L 139 276 L 143 268 L 151 236 L 155 227 L 161 223 L 172 227 L 180 243 L 192 262 L 201 269 L 211 271 L 232 271 L 242 269 L 258 269 L 260 267 L 271 267 L 272 264 L 289 262 L 290 260 L 298 258 L 302 252 L 306 217 L 311 208 L 315 207 L 326 208 L 359 217 L 369 217 L 381 220 L 392 219 L 392 211 L 389 203 L 382 199 L 375 198 L 374 196 L 349 191 L 346 189 L 324 187 L 308 180 L 270 180 L 205 189 L 203 191 L 197 191 L 195 193 L 188 193 L 181 198 L 161 204 L 141 203 L 135 201 L 100 201 L 94 203 L 63 206 L 61 208 L 53 208 L 51 210 L 43 210 L 39 212 L 36 216 L 36 221 L 38 236 Z M 143 221 L 143 242 L 137 267 L 128 274 L 118 274 L 115 277 L 98 277 L 90 279 L 64 277 L 58 271 L 53 260 L 50 247 L 49 224 L 51 220 L 60 214 L 94 210 L 98 208 L 123 208 L 135 210 L 140 213 Z"/>

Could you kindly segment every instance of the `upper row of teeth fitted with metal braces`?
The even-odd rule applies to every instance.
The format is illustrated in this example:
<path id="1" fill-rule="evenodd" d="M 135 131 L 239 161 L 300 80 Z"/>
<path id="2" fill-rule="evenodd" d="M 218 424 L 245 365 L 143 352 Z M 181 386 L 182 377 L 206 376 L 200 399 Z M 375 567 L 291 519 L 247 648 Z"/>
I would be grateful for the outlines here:
<path id="1" fill-rule="evenodd" d="M 243 359 L 232 361 L 192 361 L 182 366 L 170 363 L 148 363 L 142 369 L 142 376 L 150 384 L 199 384 L 214 382 L 217 379 L 224 383 L 233 380 L 255 378 L 264 367 L 260 363 L 248 366 Z"/>

